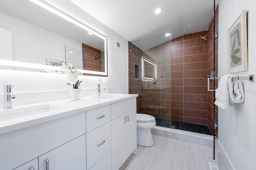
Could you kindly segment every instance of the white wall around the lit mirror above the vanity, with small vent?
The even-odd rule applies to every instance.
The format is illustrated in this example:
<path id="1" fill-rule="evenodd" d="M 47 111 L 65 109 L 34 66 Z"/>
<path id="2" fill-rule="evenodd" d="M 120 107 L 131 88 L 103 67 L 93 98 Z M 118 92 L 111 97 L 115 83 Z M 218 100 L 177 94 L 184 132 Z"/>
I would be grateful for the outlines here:
<path id="1" fill-rule="evenodd" d="M 51 0 L 49 2 L 108 37 L 108 77 L 102 77 L 102 83 L 104 87 L 108 87 L 110 93 L 128 93 L 128 41 L 70 1 Z M 115 48 L 115 40 L 123 44 L 124 51 Z M 83 80 L 80 88 L 96 88 L 98 78 L 80 76 L 79 80 Z M 14 85 L 13 92 L 15 93 L 68 90 L 70 88 L 70 86 L 65 86 L 66 76 L 64 75 L 11 70 L 0 70 L 0 93 L 3 93 L 1 88 L 3 84 Z M 15 100 L 20 99 L 16 98 Z"/>

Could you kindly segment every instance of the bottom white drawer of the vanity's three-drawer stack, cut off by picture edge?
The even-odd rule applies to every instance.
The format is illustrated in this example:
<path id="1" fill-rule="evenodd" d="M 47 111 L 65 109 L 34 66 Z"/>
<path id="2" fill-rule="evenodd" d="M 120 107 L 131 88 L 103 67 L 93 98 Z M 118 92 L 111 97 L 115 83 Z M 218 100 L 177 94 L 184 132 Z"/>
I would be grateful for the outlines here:
<path id="1" fill-rule="evenodd" d="M 111 151 L 109 151 L 90 170 L 111 170 L 111 168 Z"/>

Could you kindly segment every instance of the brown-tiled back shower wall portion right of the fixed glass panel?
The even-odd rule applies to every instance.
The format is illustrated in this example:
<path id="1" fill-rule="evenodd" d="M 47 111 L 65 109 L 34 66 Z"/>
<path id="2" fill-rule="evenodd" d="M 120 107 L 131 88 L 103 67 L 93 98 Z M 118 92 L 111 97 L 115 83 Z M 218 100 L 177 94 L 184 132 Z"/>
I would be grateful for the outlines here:
<path id="1" fill-rule="evenodd" d="M 172 40 L 172 120 L 208 124 L 208 41 L 201 31 Z"/>

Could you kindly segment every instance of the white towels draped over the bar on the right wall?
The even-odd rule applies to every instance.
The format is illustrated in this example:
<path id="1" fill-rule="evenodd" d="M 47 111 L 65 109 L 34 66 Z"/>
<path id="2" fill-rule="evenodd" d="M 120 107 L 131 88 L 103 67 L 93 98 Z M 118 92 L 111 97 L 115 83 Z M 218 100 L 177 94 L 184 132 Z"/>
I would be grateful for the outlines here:
<path id="1" fill-rule="evenodd" d="M 244 89 L 235 74 L 221 77 L 220 84 L 216 89 L 216 101 L 214 104 L 226 109 L 229 107 L 229 101 L 232 103 L 242 103 L 244 101 Z"/>

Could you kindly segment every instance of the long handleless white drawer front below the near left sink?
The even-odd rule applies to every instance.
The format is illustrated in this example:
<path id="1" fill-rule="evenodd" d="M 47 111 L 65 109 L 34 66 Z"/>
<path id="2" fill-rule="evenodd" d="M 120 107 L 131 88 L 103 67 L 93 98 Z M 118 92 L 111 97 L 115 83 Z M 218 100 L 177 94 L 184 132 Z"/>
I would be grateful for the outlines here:
<path id="1" fill-rule="evenodd" d="M 0 135 L 1 169 L 16 168 L 85 134 L 85 129 L 85 112 L 81 112 L 2 134 Z"/>

